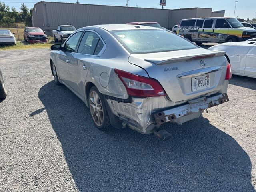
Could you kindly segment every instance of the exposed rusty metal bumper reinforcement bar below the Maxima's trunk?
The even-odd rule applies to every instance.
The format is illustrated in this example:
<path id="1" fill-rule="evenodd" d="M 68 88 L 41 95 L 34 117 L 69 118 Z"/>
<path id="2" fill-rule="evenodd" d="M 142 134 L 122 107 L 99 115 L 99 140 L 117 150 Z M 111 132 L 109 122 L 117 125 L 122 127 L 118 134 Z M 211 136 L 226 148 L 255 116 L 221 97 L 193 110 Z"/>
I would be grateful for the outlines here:
<path id="1" fill-rule="evenodd" d="M 166 122 L 176 122 L 182 124 L 193 118 L 201 116 L 205 109 L 211 108 L 213 106 L 223 104 L 228 102 L 229 98 L 226 93 L 218 94 L 216 96 L 202 97 L 194 100 L 188 101 L 188 104 L 183 104 L 181 106 L 175 106 L 173 108 L 155 112 L 152 114 L 156 125 L 161 125 Z M 192 117 L 193 116 L 193 117 Z"/>

